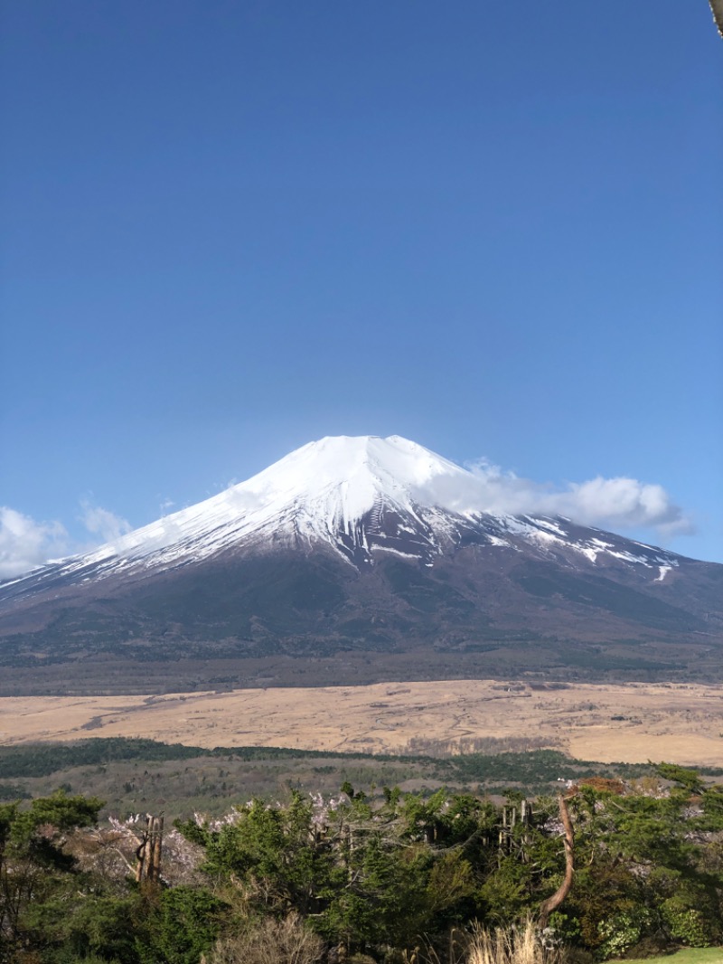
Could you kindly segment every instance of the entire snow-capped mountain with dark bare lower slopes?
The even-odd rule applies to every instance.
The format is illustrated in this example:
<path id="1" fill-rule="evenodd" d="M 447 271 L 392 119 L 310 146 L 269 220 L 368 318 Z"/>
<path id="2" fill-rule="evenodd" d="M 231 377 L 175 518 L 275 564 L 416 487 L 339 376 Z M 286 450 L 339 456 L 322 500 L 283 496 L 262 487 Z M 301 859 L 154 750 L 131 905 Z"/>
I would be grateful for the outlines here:
<path id="1" fill-rule="evenodd" d="M 721 678 L 723 566 L 482 497 L 397 436 L 310 442 L 0 584 L 7 685 Z"/>

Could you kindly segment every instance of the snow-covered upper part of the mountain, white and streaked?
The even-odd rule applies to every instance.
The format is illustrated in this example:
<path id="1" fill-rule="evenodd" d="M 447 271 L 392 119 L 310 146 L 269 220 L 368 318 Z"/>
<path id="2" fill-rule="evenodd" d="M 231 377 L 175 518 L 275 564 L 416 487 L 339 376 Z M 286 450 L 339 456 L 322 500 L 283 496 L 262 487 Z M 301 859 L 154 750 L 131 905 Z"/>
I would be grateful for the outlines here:
<path id="1" fill-rule="evenodd" d="M 433 565 L 445 549 L 474 536 L 496 547 L 526 542 L 543 553 L 573 550 L 593 563 L 622 559 L 655 568 L 658 579 L 678 565 L 673 553 L 628 541 L 623 546 L 559 517 L 481 511 L 479 495 L 479 480 L 468 469 L 399 436 L 326 438 L 220 495 L 44 572 L 54 579 L 78 573 L 102 578 L 198 563 L 228 550 L 314 547 L 334 549 L 355 565 L 373 564 L 380 552 Z M 37 586 L 42 572 L 13 580 L 15 591 Z"/>

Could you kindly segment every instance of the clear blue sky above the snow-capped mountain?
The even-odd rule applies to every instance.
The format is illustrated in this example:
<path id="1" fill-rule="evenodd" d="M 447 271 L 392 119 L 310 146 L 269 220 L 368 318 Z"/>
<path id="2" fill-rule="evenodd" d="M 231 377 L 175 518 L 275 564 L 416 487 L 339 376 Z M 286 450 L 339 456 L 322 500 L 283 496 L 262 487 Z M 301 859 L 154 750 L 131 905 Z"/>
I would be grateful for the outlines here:
<path id="1" fill-rule="evenodd" d="M 1 16 L 6 573 L 341 434 L 723 562 L 704 0 Z"/>

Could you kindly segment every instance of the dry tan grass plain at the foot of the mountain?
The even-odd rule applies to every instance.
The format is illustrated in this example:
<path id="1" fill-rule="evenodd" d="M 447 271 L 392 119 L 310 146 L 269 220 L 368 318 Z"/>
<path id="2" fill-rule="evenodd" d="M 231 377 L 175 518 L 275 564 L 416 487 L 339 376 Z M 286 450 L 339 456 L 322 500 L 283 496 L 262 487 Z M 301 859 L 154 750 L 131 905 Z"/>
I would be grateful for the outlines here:
<path id="1" fill-rule="evenodd" d="M 453 681 L 0 699 L 0 743 L 84 736 L 370 753 L 522 737 L 604 763 L 716 766 L 723 686 Z"/>

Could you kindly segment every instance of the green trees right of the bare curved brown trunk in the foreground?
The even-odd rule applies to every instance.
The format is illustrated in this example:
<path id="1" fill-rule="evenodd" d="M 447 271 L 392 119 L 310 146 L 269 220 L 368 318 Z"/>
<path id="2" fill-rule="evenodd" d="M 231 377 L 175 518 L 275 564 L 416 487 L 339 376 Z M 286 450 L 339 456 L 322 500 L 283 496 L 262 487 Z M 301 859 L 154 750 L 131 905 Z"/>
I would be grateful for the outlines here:
<path id="1" fill-rule="evenodd" d="M 705 947 L 721 934 L 720 792 L 695 771 L 657 769 L 674 782 L 667 795 L 583 788 L 574 803 L 582 867 L 569 907 L 601 957 L 654 937 Z"/>

